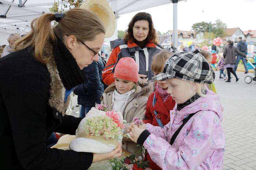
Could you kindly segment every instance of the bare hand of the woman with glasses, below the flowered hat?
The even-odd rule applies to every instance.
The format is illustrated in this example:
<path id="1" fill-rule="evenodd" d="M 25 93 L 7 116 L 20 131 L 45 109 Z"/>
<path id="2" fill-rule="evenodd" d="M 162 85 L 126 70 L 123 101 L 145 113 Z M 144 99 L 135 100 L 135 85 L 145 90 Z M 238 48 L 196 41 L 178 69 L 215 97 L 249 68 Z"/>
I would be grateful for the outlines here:
<path id="1" fill-rule="evenodd" d="M 122 148 L 121 148 L 121 143 L 119 143 L 117 148 L 109 153 L 101 153 L 101 154 L 93 153 L 93 162 L 92 163 L 121 157 L 121 155 L 122 155 Z"/>

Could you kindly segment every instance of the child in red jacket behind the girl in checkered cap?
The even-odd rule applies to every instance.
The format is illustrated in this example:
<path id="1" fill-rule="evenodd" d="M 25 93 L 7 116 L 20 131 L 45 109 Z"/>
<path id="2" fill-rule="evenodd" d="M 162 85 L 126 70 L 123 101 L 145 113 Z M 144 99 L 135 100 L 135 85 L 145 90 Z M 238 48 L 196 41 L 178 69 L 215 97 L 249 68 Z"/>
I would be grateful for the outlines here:
<path id="1" fill-rule="evenodd" d="M 152 71 L 154 72 L 154 76 L 163 72 L 166 60 L 172 55 L 173 53 L 162 51 L 153 58 Z M 155 92 L 151 93 L 148 97 L 146 120 L 143 120 L 144 123 L 163 128 L 164 125 L 170 122 L 170 110 L 174 108 L 175 101 L 172 100 L 170 94 L 167 93 L 167 88 L 168 85 L 166 81 L 156 80 Z M 151 169 L 160 170 L 160 167 L 151 160 L 149 154 L 145 155 L 144 161 L 149 161 Z"/>

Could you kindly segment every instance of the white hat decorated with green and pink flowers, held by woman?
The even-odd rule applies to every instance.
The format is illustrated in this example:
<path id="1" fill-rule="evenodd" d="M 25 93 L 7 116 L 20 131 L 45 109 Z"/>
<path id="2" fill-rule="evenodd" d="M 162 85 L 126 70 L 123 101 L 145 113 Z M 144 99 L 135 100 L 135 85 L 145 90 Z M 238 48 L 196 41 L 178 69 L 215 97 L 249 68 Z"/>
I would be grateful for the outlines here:
<path id="1" fill-rule="evenodd" d="M 117 112 L 119 115 L 120 120 L 123 121 L 123 115 L 121 112 Z M 112 140 L 105 140 L 103 137 L 90 137 L 88 138 L 84 131 L 84 124 L 85 122 L 94 116 L 106 116 L 106 113 L 101 110 L 97 110 L 96 108 L 92 108 L 83 118 L 78 125 L 76 130 L 74 139 L 70 145 L 69 149 L 78 151 L 78 152 L 90 152 L 90 153 L 108 153 L 114 150 L 118 143 Z"/>

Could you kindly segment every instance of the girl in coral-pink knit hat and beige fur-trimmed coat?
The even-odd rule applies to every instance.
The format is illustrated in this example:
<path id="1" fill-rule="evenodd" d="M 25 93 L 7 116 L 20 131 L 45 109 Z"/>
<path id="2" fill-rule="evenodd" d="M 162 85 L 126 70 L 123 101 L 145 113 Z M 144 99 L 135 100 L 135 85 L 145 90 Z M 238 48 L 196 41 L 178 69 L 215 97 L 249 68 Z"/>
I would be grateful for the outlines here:
<path id="1" fill-rule="evenodd" d="M 151 84 L 148 85 L 143 81 L 138 82 L 138 72 L 138 66 L 133 58 L 121 58 L 115 68 L 115 82 L 105 89 L 101 97 L 101 104 L 108 105 L 110 110 L 123 113 L 124 120 L 127 121 L 124 134 L 128 133 L 128 126 L 133 122 L 133 117 L 144 119 L 148 96 L 153 91 Z M 140 150 L 136 145 L 130 139 L 123 139 L 123 149 L 131 154 Z M 139 154 L 136 154 L 136 156 L 139 156 Z"/>

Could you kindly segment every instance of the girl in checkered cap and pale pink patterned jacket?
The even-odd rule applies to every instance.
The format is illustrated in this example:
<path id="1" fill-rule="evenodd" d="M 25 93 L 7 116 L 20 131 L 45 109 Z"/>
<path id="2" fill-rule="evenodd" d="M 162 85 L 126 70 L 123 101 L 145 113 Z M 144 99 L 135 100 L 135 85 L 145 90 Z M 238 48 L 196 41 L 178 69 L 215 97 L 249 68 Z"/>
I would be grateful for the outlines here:
<path id="1" fill-rule="evenodd" d="M 164 128 L 131 124 L 131 139 L 142 144 L 163 170 L 222 169 L 222 106 L 219 97 L 206 88 L 215 78 L 206 59 L 199 50 L 174 54 L 163 73 L 153 78 L 166 80 L 167 92 L 177 105 Z"/>

